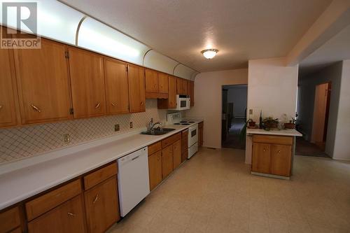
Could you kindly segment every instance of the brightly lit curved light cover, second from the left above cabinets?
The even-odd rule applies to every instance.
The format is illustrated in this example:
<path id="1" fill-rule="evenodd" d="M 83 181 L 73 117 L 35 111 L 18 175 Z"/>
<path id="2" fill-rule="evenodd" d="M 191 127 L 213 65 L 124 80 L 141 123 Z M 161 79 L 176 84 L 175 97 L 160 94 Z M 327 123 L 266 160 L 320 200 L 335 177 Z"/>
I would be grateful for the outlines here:
<path id="1" fill-rule="evenodd" d="M 139 41 L 90 17 L 80 25 L 78 46 L 139 65 L 149 50 Z"/>

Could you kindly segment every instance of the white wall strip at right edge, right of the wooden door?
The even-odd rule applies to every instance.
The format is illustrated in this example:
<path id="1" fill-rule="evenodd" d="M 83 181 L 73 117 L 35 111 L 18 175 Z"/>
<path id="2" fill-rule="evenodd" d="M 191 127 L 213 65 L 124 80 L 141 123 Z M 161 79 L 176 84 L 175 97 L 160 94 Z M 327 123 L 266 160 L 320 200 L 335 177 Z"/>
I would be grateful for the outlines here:
<path id="1" fill-rule="evenodd" d="M 350 60 L 343 61 L 333 158 L 350 160 Z"/>

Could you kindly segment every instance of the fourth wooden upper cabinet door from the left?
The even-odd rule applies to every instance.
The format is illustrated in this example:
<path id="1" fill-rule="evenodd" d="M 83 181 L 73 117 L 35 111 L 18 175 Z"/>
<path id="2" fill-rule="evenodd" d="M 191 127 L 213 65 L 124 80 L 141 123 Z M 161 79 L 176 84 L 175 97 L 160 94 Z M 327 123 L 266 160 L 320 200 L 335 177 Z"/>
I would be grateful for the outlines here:
<path id="1" fill-rule="evenodd" d="M 129 113 L 129 85 L 127 64 L 116 59 L 104 58 L 107 114 Z"/>

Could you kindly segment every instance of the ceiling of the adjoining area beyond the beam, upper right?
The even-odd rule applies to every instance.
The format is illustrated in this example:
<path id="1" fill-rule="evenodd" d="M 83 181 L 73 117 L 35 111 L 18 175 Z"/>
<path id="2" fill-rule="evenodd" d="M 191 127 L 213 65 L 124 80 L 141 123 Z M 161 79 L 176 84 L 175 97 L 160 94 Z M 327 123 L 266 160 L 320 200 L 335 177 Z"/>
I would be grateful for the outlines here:
<path id="1" fill-rule="evenodd" d="M 300 75 L 305 76 L 344 59 L 350 59 L 350 25 L 305 58 L 300 63 Z"/>

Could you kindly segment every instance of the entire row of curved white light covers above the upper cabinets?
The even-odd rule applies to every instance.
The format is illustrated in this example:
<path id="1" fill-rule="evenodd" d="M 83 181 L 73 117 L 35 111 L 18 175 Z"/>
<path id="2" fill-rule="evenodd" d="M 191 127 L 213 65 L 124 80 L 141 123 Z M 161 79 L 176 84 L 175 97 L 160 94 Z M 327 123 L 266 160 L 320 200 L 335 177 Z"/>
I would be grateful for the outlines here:
<path id="1" fill-rule="evenodd" d="M 3 1 L 6 2 L 6 1 Z M 25 1 L 24 1 L 25 2 Z M 109 57 L 121 59 L 180 78 L 194 80 L 199 73 L 176 60 L 156 52 L 117 29 L 56 0 L 31 0 L 37 3 L 38 36 L 75 45 Z M 2 6 L 1 6 L 2 8 Z M 1 9 L 2 10 L 2 9 Z M 15 20 L 0 24 L 18 29 Z M 25 28 L 21 28 L 26 31 Z M 26 32 L 31 33 L 27 30 Z"/>

